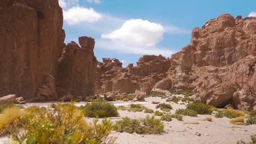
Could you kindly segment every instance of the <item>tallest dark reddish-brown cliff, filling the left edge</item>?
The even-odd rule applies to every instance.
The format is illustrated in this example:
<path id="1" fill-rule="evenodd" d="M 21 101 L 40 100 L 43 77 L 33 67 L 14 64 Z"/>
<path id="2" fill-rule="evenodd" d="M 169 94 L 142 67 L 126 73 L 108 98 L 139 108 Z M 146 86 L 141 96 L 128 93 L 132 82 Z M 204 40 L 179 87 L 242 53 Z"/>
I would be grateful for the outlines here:
<path id="1" fill-rule="evenodd" d="M 65 39 L 57 0 L 1 0 L 0 97 L 33 100 L 45 74 L 56 75 Z"/>

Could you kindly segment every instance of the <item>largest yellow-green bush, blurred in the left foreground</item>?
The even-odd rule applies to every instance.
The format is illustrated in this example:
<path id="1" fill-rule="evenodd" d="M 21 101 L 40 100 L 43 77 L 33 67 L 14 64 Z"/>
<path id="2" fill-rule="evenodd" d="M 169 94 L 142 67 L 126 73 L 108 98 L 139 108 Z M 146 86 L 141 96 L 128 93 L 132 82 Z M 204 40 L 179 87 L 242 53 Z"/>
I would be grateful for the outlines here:
<path id="1" fill-rule="evenodd" d="M 108 137 L 112 122 L 106 118 L 102 123 L 97 119 L 88 124 L 84 112 L 73 104 L 61 105 L 52 109 L 30 107 L 22 116 L 22 135 L 14 132 L 11 137 L 17 143 L 113 143 Z M 18 131 L 18 130 L 16 130 Z"/>

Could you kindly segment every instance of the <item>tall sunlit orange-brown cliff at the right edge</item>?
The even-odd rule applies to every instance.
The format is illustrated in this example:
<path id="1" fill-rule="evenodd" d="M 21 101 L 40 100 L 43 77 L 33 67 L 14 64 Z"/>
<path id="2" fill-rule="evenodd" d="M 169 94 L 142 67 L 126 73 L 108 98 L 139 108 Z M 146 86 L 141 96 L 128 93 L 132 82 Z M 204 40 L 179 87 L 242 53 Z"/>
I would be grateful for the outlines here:
<path id="1" fill-rule="evenodd" d="M 172 88 L 194 89 L 202 103 L 256 109 L 255 58 L 256 18 L 223 14 L 193 29 L 191 44 L 172 55 L 168 76 Z"/>

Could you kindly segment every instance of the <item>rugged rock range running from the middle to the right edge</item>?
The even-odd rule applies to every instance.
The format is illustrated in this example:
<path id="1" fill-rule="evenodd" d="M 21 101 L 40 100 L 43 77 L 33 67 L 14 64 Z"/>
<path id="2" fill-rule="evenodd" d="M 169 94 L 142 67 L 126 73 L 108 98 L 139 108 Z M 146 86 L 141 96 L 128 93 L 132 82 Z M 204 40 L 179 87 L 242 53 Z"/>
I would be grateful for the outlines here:
<path id="1" fill-rule="evenodd" d="M 103 59 L 97 67 L 96 93 L 147 94 L 170 89 L 197 91 L 202 103 L 256 109 L 256 18 L 222 14 L 192 31 L 191 43 L 171 59 L 143 56 L 137 66 Z"/>

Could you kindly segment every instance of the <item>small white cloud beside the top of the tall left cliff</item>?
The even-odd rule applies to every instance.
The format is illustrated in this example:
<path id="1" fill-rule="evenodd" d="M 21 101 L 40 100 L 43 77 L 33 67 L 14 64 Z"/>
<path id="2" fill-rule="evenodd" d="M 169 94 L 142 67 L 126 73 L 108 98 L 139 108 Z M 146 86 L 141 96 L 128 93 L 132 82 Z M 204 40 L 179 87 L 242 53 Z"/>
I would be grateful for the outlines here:
<path id="1" fill-rule="evenodd" d="M 82 22 L 94 23 L 100 20 L 102 15 L 97 13 L 92 8 L 72 7 L 71 9 L 63 10 L 63 19 L 68 25 L 75 25 Z"/>

